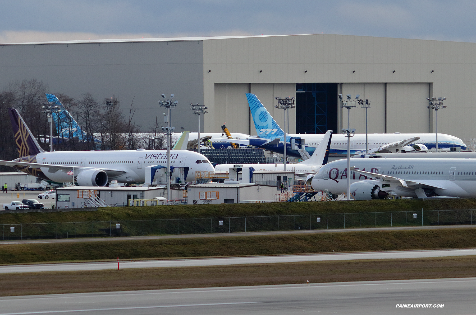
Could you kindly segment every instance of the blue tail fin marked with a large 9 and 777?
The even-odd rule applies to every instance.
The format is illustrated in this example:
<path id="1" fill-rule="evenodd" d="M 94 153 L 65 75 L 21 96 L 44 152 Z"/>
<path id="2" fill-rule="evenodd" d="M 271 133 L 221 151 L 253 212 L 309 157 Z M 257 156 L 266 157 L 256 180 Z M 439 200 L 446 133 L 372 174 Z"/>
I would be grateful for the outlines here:
<path id="1" fill-rule="evenodd" d="M 284 135 L 284 131 L 279 128 L 271 114 L 268 113 L 265 106 L 261 104 L 256 95 L 246 93 L 248 99 L 249 110 L 255 123 L 256 134 L 260 138 L 275 139 Z"/>

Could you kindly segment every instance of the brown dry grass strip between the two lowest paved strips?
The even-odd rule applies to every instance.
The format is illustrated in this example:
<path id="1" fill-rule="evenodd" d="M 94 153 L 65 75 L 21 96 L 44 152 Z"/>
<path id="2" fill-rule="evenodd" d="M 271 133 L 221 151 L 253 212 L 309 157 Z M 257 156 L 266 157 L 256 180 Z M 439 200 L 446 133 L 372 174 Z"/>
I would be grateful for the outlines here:
<path id="1" fill-rule="evenodd" d="M 476 256 L 0 274 L 0 296 L 476 277 Z"/>

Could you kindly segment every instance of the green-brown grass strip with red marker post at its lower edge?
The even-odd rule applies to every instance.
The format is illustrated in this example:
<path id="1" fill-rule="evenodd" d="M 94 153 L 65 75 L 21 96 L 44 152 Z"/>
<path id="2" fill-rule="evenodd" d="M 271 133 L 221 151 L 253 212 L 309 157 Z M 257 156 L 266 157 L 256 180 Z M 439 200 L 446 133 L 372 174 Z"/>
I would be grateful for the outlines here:
<path id="1" fill-rule="evenodd" d="M 0 264 L 138 258 L 283 255 L 405 249 L 474 248 L 476 229 L 306 233 L 0 245 Z"/>

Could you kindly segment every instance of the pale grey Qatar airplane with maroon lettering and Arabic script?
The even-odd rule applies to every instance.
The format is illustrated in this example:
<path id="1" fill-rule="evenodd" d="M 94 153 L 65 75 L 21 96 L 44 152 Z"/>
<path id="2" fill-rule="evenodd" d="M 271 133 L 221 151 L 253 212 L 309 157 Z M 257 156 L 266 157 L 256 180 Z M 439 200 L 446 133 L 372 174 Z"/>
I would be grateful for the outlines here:
<path id="1" fill-rule="evenodd" d="M 350 193 L 356 200 L 388 195 L 476 197 L 476 162 L 472 159 L 352 159 L 350 165 Z M 326 164 L 311 185 L 318 191 L 347 193 L 347 160 Z"/>

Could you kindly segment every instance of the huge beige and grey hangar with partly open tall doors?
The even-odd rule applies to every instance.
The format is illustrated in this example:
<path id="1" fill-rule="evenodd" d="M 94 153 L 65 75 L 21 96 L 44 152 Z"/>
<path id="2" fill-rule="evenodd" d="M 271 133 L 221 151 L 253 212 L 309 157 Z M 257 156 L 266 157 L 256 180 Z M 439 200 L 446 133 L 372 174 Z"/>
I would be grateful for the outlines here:
<path id="1" fill-rule="evenodd" d="M 134 97 L 137 122 L 155 124 L 159 95 L 179 100 L 172 125 L 198 128 L 189 103 L 205 104 L 201 129 L 256 134 L 245 93 L 253 93 L 279 124 L 275 96 L 296 96 L 291 133 L 347 126 L 338 94 L 372 101 L 370 133 L 434 132 L 427 97 L 447 97 L 438 131 L 476 137 L 473 127 L 476 44 L 421 39 L 310 34 L 244 37 L 135 38 L 0 44 L 0 86 L 35 77 L 52 93 L 117 95 L 125 111 Z M 161 119 L 159 118 L 159 121 Z M 351 110 L 365 132 L 365 110 Z M 282 125 L 281 125 L 282 126 Z M 283 126 L 282 126 L 283 127 Z"/>

